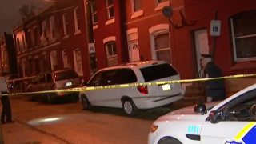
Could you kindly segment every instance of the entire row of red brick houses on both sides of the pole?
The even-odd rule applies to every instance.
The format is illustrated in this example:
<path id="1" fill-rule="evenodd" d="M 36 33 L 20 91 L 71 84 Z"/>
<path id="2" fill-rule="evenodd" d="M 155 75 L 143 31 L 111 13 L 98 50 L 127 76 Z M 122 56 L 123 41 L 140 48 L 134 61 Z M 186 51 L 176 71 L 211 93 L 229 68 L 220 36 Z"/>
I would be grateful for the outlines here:
<path id="1" fill-rule="evenodd" d="M 40 67 L 40 71 L 47 66 L 51 69 L 70 66 L 88 80 L 90 69 L 87 58 L 86 2 L 56 2 L 14 28 L 19 67 L 22 67 L 22 62 L 26 62 L 24 66 L 32 67 L 29 70 L 30 75 L 33 75 L 39 72 L 35 66 Z M 61 10 L 70 6 L 74 8 L 66 12 Z M 173 9 L 170 21 L 177 24 L 177 27 L 163 16 L 164 6 Z M 229 9 L 226 9 L 227 6 Z M 253 0 L 91 0 L 97 68 L 99 70 L 139 59 L 160 59 L 170 62 L 182 79 L 196 78 L 201 69 L 200 54 L 210 54 L 213 49 L 210 20 L 214 19 L 214 10 L 218 10 L 218 20 L 222 25 L 221 35 L 215 43 L 216 64 L 225 75 L 254 73 L 255 8 Z M 54 10 L 57 12 L 51 13 Z M 79 12 L 76 13 L 76 10 Z M 185 26 L 184 21 L 188 23 Z M 26 32 L 28 28 L 30 33 Z M 24 49 L 30 42 L 27 40 L 30 36 L 22 34 L 31 34 L 30 48 Z M 33 59 L 31 62 L 34 64 L 29 64 L 29 58 Z M 28 70 L 19 69 L 23 76 L 29 75 L 24 74 Z"/>

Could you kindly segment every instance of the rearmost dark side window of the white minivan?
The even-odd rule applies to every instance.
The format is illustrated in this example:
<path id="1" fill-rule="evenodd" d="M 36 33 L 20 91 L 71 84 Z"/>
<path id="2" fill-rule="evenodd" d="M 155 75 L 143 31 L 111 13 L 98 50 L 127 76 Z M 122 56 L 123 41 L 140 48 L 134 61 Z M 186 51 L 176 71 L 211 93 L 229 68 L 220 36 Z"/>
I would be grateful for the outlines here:
<path id="1" fill-rule="evenodd" d="M 118 84 L 134 83 L 137 82 L 136 74 L 131 69 L 118 70 Z"/>

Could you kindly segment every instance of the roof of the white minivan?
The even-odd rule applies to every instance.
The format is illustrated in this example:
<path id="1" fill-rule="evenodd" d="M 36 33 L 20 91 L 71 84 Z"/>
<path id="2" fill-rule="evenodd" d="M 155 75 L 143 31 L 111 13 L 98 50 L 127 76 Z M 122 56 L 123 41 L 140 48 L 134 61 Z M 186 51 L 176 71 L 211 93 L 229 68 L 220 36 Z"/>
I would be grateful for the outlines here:
<path id="1" fill-rule="evenodd" d="M 138 68 L 143 68 L 143 67 L 157 65 L 157 64 L 162 64 L 162 63 L 168 63 L 168 62 L 160 61 L 160 60 L 125 62 L 125 63 L 123 63 L 121 65 L 110 66 L 110 67 L 103 68 L 101 70 L 112 70 L 112 69 L 116 69 L 118 67 L 122 68 L 122 67 L 134 67 L 134 66 L 137 66 Z M 101 70 L 99 70 L 99 71 L 101 71 Z"/>

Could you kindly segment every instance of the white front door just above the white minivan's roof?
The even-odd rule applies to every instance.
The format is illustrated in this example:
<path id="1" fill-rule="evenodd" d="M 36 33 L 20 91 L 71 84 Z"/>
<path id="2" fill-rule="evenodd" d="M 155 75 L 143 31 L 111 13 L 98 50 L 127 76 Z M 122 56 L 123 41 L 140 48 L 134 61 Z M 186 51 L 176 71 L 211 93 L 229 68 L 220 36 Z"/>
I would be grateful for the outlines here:
<path id="1" fill-rule="evenodd" d="M 139 61 L 138 40 L 129 42 L 130 62 Z"/>

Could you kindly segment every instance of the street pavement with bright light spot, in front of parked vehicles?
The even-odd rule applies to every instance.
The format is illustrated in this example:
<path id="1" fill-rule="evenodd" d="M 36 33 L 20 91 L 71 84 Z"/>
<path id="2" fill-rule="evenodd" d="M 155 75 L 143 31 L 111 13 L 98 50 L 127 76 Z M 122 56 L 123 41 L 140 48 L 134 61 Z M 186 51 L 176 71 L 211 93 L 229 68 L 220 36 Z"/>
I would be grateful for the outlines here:
<path id="1" fill-rule="evenodd" d="M 176 102 L 156 110 L 142 110 L 138 116 L 128 117 L 119 109 L 95 107 L 82 110 L 80 103 L 50 105 L 28 102 L 17 96 L 10 99 L 15 122 L 46 137 L 72 144 L 146 143 L 155 119 L 170 110 L 194 104 L 191 101 Z"/>

